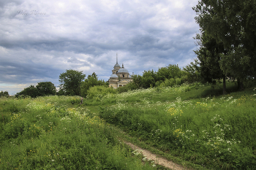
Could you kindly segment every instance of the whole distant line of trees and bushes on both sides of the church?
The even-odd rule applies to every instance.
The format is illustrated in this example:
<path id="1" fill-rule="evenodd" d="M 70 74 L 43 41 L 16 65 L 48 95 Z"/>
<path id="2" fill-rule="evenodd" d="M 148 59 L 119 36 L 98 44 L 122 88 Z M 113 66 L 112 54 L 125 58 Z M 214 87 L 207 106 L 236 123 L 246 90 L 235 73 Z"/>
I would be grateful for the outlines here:
<path id="1" fill-rule="evenodd" d="M 127 85 L 117 89 L 113 89 L 112 87 L 109 88 L 109 83 L 104 80 L 99 80 L 95 73 L 88 75 L 86 78 L 86 74 L 83 74 L 83 72 L 70 69 L 60 74 L 60 85 L 58 91 L 52 82 L 38 82 L 36 87 L 31 85 L 29 88 L 25 88 L 15 96 L 30 96 L 32 98 L 36 98 L 37 96 L 58 95 L 100 98 L 108 93 L 123 93 L 128 90 L 136 90 L 140 88 L 172 87 L 183 83 L 208 82 L 214 85 L 217 81 L 225 82 L 227 79 L 227 77 L 223 77 L 223 80 L 221 79 L 222 77 L 207 77 L 205 73 L 206 68 L 200 66 L 197 62 L 198 61 L 196 60 L 195 63 L 192 62 L 183 69 L 179 68 L 176 64 L 170 64 L 169 66 L 159 68 L 157 72 L 154 72 L 154 70 L 148 70 L 144 71 L 142 76 L 137 74 L 132 75 L 132 82 L 129 82 Z M 255 85 L 255 80 L 252 81 L 252 79 L 248 79 L 246 82 L 250 82 L 251 85 Z"/>

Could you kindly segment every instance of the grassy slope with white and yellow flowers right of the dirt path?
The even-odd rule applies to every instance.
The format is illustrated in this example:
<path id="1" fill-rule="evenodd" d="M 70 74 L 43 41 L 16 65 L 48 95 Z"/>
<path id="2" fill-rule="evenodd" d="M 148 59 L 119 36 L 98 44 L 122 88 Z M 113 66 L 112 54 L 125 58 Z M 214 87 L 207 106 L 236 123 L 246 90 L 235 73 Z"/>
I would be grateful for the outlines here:
<path id="1" fill-rule="evenodd" d="M 214 96 L 209 88 L 184 85 L 120 94 L 100 117 L 186 161 L 210 169 L 256 169 L 256 91 Z"/>

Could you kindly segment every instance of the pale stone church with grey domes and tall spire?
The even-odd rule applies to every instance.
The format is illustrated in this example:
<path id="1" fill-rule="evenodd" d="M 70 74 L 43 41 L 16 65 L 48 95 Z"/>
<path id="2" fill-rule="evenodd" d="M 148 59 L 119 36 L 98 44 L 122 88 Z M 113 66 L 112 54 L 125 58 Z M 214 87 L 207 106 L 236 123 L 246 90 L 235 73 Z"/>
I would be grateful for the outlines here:
<path id="1" fill-rule="evenodd" d="M 129 72 L 127 69 L 124 69 L 124 64 L 122 67 L 118 64 L 117 54 L 116 54 L 116 65 L 112 70 L 112 75 L 108 80 L 109 87 L 119 88 L 121 86 L 127 85 L 129 82 L 132 82 L 132 77 L 129 77 Z"/>

